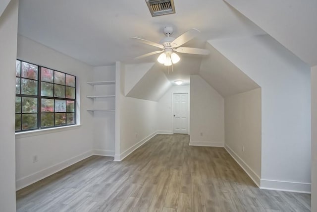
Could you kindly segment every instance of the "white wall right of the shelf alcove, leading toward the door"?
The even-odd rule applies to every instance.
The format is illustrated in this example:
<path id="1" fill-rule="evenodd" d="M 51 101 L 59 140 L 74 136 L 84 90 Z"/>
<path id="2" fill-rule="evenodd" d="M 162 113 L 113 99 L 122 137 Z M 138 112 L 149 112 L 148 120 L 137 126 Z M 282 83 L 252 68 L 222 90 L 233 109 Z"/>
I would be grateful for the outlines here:
<path id="1" fill-rule="evenodd" d="M 124 82 L 124 64 L 117 62 L 116 88 L 119 90 L 116 90 L 116 110 L 119 110 L 119 126 L 116 124 L 116 130 L 119 131 L 119 141 L 116 138 L 116 145 L 120 142 L 120 146 L 116 146 L 115 160 L 122 160 L 156 133 L 158 102 L 124 96 Z"/>

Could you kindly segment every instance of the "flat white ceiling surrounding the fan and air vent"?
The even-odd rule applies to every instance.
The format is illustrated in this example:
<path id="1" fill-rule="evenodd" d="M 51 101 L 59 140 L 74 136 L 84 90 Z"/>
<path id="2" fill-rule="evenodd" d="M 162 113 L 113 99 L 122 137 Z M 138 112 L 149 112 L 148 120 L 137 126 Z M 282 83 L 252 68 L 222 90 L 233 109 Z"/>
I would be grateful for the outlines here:
<path id="1" fill-rule="evenodd" d="M 176 13 L 152 17 L 145 0 L 20 0 L 18 33 L 92 66 L 156 62 L 158 50 L 138 43 L 136 36 L 159 42 L 162 28 L 174 27 L 173 37 L 197 28 L 202 33 L 184 46 L 204 48 L 206 41 L 265 34 L 223 0 L 174 0 Z M 160 65 L 170 81 L 197 74 L 203 56 L 179 54 L 173 72 Z M 157 63 L 157 62 L 156 62 Z"/>

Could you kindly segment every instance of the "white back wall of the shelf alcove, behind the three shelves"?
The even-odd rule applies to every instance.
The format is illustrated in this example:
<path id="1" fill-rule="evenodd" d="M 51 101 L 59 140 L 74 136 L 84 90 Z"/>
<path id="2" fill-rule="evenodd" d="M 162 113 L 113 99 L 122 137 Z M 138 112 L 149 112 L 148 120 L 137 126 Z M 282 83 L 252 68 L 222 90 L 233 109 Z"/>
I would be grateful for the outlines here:
<path id="1" fill-rule="evenodd" d="M 94 68 L 94 81 L 115 80 L 115 66 Z M 115 85 L 98 85 L 90 95 L 115 95 Z M 94 108 L 115 109 L 115 98 L 95 98 Z M 95 111 L 94 115 L 94 154 L 114 156 L 115 151 L 115 112 Z"/>

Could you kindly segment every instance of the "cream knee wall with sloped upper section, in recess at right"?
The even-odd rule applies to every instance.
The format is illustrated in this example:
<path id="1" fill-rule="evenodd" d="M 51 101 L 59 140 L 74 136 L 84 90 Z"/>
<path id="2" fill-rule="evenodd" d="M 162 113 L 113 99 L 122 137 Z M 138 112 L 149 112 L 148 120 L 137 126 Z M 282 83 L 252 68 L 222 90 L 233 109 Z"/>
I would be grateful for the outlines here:
<path id="1" fill-rule="evenodd" d="M 209 42 L 206 49 L 199 75 L 224 97 L 225 148 L 260 186 L 261 88 Z"/>

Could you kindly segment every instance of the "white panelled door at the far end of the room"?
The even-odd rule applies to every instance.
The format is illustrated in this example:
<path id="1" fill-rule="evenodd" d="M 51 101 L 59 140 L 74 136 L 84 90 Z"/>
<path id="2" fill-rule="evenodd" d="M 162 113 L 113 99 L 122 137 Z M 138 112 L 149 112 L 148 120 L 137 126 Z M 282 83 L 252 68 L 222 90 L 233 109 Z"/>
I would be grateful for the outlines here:
<path id="1" fill-rule="evenodd" d="M 175 134 L 188 134 L 188 93 L 173 94 L 173 129 Z"/>

